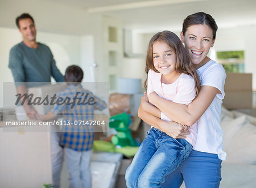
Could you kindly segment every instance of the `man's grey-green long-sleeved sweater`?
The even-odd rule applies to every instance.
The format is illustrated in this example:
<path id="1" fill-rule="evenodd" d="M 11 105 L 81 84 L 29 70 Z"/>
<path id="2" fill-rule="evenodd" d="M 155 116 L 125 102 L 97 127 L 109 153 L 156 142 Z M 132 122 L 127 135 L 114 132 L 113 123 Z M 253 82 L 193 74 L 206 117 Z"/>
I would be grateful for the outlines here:
<path id="1" fill-rule="evenodd" d="M 38 42 L 38 48 L 29 48 L 23 42 L 10 50 L 9 68 L 14 82 L 64 82 L 64 77 L 56 67 L 48 46 Z"/>

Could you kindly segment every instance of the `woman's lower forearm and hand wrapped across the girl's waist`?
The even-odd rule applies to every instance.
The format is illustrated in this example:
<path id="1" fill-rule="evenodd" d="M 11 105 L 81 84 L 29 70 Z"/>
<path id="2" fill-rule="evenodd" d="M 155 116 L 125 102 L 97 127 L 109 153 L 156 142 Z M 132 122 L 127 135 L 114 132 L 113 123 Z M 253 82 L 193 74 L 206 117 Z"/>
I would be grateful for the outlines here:
<path id="1" fill-rule="evenodd" d="M 158 128 L 172 138 L 186 138 L 186 135 L 190 133 L 186 127 L 180 125 L 180 123 L 176 123 L 174 121 L 163 121 L 162 119 L 152 116 L 150 113 L 143 110 L 142 104 L 144 102 L 148 103 L 143 96 L 138 110 L 138 117 L 140 117 L 144 122 Z"/>

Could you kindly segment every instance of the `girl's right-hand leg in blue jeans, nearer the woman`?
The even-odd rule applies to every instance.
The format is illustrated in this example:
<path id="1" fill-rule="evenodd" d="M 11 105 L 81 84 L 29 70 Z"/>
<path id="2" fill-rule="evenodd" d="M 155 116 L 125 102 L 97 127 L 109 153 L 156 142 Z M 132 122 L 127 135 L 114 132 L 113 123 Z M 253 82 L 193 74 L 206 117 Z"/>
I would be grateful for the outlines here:
<path id="1" fill-rule="evenodd" d="M 174 172 L 192 151 L 187 140 L 176 140 L 165 133 L 160 135 L 161 138 L 156 140 L 157 151 L 139 176 L 139 187 L 162 187 L 161 183 L 167 174 Z"/>

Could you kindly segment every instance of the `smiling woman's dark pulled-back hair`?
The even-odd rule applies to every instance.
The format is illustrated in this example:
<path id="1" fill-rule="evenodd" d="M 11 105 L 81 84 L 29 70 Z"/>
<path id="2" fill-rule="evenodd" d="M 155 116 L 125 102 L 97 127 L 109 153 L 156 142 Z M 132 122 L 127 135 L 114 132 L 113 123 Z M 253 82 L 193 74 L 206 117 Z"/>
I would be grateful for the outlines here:
<path id="1" fill-rule="evenodd" d="M 208 25 L 208 27 L 212 29 L 213 40 L 216 38 L 218 26 L 212 16 L 206 14 L 205 12 L 196 12 L 195 14 L 191 14 L 184 19 L 182 27 L 183 35 L 185 35 L 185 32 L 187 32 L 189 26 L 197 24 Z"/>

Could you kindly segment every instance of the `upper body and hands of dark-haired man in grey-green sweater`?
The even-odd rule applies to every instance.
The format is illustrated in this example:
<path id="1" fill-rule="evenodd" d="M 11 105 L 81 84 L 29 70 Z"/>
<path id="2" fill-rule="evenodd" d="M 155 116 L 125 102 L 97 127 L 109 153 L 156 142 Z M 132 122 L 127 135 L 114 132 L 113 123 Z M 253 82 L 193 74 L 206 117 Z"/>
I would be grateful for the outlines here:
<path id="1" fill-rule="evenodd" d="M 36 42 L 33 18 L 29 14 L 22 14 L 16 18 L 16 25 L 23 41 L 11 48 L 9 68 L 13 73 L 14 82 L 17 83 L 17 92 L 22 95 L 27 92 L 24 82 L 51 82 L 51 76 L 56 82 L 64 82 L 51 50 L 48 46 Z M 25 102 L 23 107 L 28 117 L 36 118 L 36 110 L 32 106 Z"/>

